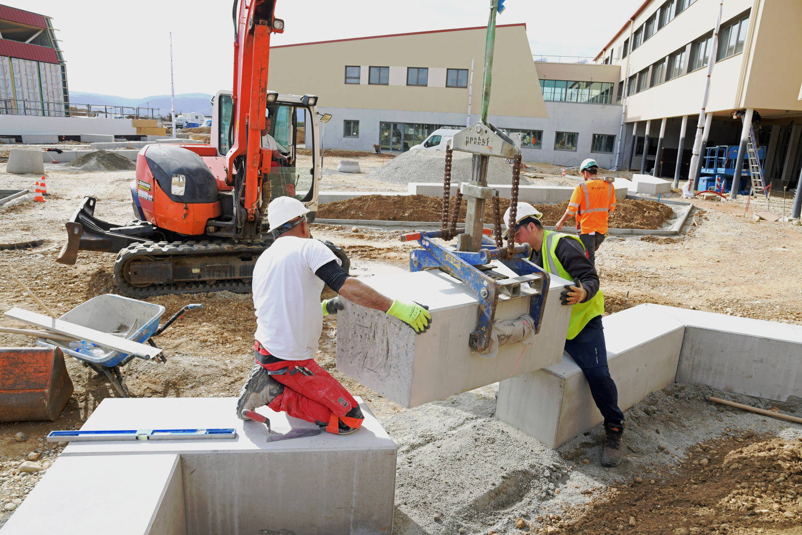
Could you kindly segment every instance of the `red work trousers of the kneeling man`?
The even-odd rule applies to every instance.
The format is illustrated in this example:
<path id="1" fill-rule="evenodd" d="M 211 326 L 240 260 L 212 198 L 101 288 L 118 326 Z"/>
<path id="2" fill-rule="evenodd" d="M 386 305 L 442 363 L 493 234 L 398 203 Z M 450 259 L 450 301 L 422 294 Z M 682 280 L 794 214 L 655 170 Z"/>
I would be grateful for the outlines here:
<path id="1" fill-rule="evenodd" d="M 282 394 L 268 404 L 273 411 L 285 411 L 295 418 L 318 425 L 327 425 L 326 431 L 338 433 L 339 422 L 350 428 L 362 425 L 362 418 L 346 416 L 358 407 L 356 399 L 330 373 L 318 366 L 314 359 L 280 360 L 262 364 L 268 371 L 282 371 L 272 375 L 285 388 Z"/>

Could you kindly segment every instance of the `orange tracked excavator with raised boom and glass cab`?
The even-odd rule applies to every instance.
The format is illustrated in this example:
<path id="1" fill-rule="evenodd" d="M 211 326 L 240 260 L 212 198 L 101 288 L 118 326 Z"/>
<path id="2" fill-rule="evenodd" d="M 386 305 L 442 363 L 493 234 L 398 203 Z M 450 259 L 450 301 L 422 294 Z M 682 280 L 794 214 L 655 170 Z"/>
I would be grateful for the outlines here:
<path id="1" fill-rule="evenodd" d="M 318 207 L 322 154 L 315 95 L 268 89 L 270 35 L 284 31 L 275 0 L 235 0 L 233 91 L 213 99 L 209 144 L 156 143 L 136 157 L 131 184 L 136 219 L 114 225 L 94 216 L 84 197 L 57 261 L 79 250 L 117 253 L 114 279 L 133 298 L 251 290 L 253 266 L 273 241 L 265 211 L 275 197 Z M 269 143 L 272 137 L 273 143 Z M 269 148 L 262 148 L 265 144 Z M 273 147 L 277 150 L 274 152 Z M 311 156 L 299 148 L 312 149 Z M 342 249 L 325 242 L 342 260 Z"/>

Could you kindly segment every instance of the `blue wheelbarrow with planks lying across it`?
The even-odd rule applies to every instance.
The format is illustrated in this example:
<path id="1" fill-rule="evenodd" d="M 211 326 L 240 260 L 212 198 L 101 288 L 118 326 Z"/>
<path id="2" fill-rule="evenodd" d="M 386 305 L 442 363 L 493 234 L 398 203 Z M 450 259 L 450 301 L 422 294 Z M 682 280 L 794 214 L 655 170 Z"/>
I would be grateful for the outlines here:
<path id="1" fill-rule="evenodd" d="M 176 314 L 172 314 L 172 317 L 164 322 L 164 325 L 159 326 L 159 318 L 164 314 L 164 306 L 126 298 L 122 295 L 103 294 L 81 303 L 59 319 L 115 334 L 135 342 L 147 342 L 152 347 L 158 347 L 153 341 L 154 337 L 164 332 L 187 310 L 200 308 L 203 308 L 203 305 L 186 305 Z M 67 342 L 61 339 L 42 337 L 36 340 L 36 345 L 59 347 L 64 355 L 71 355 L 75 359 L 79 359 L 85 366 L 91 367 L 99 375 L 108 379 L 117 393 L 124 398 L 130 397 L 125 379 L 128 377 L 128 370 L 133 359 L 144 359 L 144 357 L 128 355 L 120 351 L 106 350 L 83 341 Z M 164 363 L 166 360 L 164 355 L 156 357 L 158 362 Z M 122 370 L 123 367 L 125 367 L 125 371 Z"/>

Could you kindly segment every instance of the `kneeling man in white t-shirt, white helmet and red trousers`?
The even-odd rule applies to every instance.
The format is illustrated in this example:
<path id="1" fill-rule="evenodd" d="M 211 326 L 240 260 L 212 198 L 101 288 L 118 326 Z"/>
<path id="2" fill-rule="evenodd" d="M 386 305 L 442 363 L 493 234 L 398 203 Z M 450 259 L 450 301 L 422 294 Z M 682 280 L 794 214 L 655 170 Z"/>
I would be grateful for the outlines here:
<path id="1" fill-rule="evenodd" d="M 431 315 L 427 306 L 388 298 L 350 278 L 326 245 L 310 239 L 308 212 L 292 197 L 277 197 L 268 205 L 275 241 L 253 269 L 256 364 L 240 391 L 237 416 L 242 418 L 243 409 L 267 405 L 327 432 L 346 434 L 362 425 L 362 411 L 313 358 L 323 316 L 344 308 L 339 296 L 320 302 L 324 284 L 350 302 L 399 318 L 417 333 L 428 329 Z"/>

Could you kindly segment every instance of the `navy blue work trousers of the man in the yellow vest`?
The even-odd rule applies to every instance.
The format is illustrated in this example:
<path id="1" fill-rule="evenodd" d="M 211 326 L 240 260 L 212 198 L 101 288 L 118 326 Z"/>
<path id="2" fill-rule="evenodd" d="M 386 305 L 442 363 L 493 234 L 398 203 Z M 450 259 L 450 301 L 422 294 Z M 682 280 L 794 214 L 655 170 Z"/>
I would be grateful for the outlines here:
<path id="1" fill-rule="evenodd" d="M 581 367 L 590 394 L 604 416 L 605 424 L 621 425 L 624 413 L 618 408 L 618 389 L 607 366 L 602 316 L 591 319 L 576 337 L 565 340 L 565 352 Z"/>

